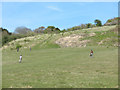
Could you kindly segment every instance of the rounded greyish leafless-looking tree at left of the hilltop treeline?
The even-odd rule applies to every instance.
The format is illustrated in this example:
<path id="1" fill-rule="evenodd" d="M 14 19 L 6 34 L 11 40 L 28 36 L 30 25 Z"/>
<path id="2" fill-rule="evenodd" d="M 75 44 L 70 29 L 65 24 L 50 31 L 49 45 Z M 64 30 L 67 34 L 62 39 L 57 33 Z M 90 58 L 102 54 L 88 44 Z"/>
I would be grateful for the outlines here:
<path id="1" fill-rule="evenodd" d="M 14 31 L 14 33 L 17 33 L 17 34 L 28 34 L 30 32 L 32 32 L 32 30 L 24 26 L 17 27 Z"/>

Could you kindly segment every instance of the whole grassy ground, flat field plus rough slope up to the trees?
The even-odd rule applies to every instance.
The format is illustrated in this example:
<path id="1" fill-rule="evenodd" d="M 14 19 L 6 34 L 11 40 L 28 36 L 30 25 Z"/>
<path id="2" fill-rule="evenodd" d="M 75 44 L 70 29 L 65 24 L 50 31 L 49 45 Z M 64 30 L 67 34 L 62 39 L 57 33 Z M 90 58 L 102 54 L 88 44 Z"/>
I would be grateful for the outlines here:
<path id="1" fill-rule="evenodd" d="M 2 87 L 117 88 L 116 28 L 104 26 L 42 34 L 8 43 L 2 51 Z M 22 47 L 16 52 L 18 44 Z M 91 49 L 93 57 L 89 56 Z"/>

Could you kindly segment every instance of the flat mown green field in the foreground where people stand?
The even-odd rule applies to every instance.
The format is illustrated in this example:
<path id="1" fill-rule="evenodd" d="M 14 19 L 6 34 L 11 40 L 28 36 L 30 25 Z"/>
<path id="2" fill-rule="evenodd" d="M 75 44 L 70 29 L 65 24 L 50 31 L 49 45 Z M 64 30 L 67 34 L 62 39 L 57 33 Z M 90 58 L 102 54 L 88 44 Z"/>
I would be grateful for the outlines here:
<path id="1" fill-rule="evenodd" d="M 89 57 L 93 49 L 94 57 Z M 118 48 L 3 50 L 3 88 L 117 88 Z M 19 55 L 23 61 L 18 63 Z"/>

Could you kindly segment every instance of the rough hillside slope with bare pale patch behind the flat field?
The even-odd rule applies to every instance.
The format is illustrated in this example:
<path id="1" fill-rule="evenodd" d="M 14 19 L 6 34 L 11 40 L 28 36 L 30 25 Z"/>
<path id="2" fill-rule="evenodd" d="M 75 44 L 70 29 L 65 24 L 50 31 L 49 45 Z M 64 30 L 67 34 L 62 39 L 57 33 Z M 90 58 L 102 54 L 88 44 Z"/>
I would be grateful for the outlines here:
<path id="1" fill-rule="evenodd" d="M 118 46 L 117 26 L 94 27 L 59 34 L 40 34 L 9 42 L 3 49 L 22 48 L 58 48 L 86 46 Z"/>

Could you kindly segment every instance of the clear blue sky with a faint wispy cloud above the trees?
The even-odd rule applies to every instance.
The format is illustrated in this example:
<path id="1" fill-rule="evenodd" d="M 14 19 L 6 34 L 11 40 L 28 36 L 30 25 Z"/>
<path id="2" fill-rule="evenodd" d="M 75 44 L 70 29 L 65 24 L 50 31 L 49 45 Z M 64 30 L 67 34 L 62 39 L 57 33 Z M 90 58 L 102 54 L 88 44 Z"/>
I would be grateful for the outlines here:
<path id="1" fill-rule="evenodd" d="M 19 26 L 32 30 L 40 26 L 67 29 L 76 25 L 104 24 L 118 16 L 117 2 L 3 2 L 2 27 L 13 32 Z"/>

